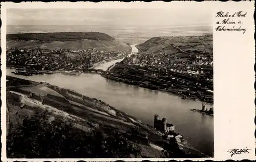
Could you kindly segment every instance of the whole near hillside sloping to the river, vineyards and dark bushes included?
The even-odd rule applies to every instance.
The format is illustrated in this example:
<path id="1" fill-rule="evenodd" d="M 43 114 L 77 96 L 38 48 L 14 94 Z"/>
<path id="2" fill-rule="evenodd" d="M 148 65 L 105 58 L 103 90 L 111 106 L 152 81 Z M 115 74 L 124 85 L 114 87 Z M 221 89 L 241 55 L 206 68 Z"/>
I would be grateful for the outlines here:
<path id="1" fill-rule="evenodd" d="M 9 158 L 164 157 L 163 133 L 73 90 L 7 76 L 7 112 Z M 207 157 L 170 144 L 175 157 Z"/>

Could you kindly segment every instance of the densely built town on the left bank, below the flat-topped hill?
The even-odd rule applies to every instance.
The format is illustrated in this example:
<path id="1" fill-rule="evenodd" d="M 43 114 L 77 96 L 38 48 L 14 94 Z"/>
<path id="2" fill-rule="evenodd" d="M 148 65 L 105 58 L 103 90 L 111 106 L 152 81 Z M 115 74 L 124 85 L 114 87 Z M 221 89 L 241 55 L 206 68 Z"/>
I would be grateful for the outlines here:
<path id="1" fill-rule="evenodd" d="M 7 64 L 36 66 L 42 70 L 84 69 L 100 61 L 126 55 L 124 52 L 105 52 L 97 49 L 11 49 L 7 51 Z M 38 70 L 39 70 L 38 69 Z"/>

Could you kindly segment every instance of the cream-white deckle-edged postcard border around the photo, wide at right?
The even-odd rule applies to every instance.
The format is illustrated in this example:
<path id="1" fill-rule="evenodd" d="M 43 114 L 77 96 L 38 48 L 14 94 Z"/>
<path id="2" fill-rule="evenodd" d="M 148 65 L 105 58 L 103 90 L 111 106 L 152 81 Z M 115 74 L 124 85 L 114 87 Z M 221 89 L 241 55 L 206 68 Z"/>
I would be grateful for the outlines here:
<path id="1" fill-rule="evenodd" d="M 23 2 L 23 3 L 1 3 L 1 126 L 2 126 L 2 161 L 78 161 L 81 159 L 7 159 L 6 158 L 6 9 L 7 8 L 168 8 L 177 5 L 187 10 L 194 8 L 200 12 L 205 7 L 212 13 L 214 29 L 216 28 L 218 11 L 247 12 L 243 19 L 244 27 L 247 28 L 245 34 L 241 32 L 216 32 L 214 30 L 214 137 L 215 137 L 215 157 L 207 158 L 212 160 L 242 160 L 255 159 L 255 105 L 254 105 L 254 1 L 252 2 Z M 189 16 L 189 13 L 187 13 Z M 230 155 L 228 149 L 251 148 L 249 154 Z M 141 160 L 170 160 L 159 158 L 130 158 L 119 159 L 125 161 Z M 117 158 L 109 159 L 83 159 L 85 161 L 115 161 Z M 185 160 L 185 159 L 176 159 Z M 205 160 L 190 159 L 190 160 Z"/>

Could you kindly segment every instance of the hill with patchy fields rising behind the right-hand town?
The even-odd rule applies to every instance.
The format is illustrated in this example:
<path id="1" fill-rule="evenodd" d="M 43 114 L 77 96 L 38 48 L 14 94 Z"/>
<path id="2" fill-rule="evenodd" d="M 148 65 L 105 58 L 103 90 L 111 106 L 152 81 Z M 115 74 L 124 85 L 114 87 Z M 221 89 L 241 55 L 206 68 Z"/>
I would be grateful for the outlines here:
<path id="1" fill-rule="evenodd" d="M 172 56 L 212 55 L 212 35 L 185 37 L 153 37 L 136 46 L 139 52 L 167 53 Z"/>

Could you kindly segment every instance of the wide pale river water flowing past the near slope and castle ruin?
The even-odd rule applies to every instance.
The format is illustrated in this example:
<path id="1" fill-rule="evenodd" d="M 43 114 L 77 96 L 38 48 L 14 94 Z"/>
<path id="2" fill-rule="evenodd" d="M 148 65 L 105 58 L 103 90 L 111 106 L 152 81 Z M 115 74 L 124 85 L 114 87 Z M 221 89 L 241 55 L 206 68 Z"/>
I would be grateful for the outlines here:
<path id="1" fill-rule="evenodd" d="M 98 68 L 105 70 L 114 62 L 108 62 Z M 189 109 L 200 109 L 199 101 L 183 100 L 178 96 L 163 92 L 126 85 L 108 80 L 99 74 L 83 73 L 80 76 L 67 75 L 33 75 L 20 76 L 7 70 L 7 75 L 33 80 L 47 81 L 59 87 L 73 89 L 86 96 L 100 99 L 115 108 L 131 114 L 143 122 L 154 124 L 154 115 L 166 118 L 175 125 L 176 132 L 201 152 L 212 156 L 214 152 L 214 117 Z M 212 105 L 211 105 L 212 106 Z M 206 105 L 207 108 L 210 105 Z"/>

